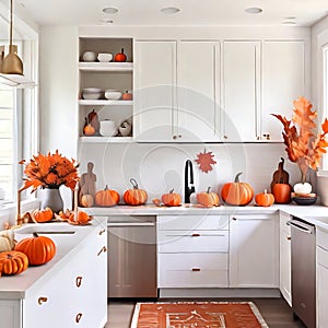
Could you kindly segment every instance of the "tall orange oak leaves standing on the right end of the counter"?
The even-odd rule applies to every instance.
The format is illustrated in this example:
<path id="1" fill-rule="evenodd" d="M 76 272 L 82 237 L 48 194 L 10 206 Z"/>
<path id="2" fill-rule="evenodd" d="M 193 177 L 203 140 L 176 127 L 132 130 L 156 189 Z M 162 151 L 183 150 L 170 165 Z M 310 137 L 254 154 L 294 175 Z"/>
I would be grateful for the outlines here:
<path id="1" fill-rule="evenodd" d="M 323 132 L 316 130 L 315 119 L 317 112 L 312 110 L 313 105 L 305 98 L 294 101 L 294 115 L 291 120 L 278 114 L 272 114 L 283 125 L 283 142 L 291 162 L 296 163 L 301 171 L 301 183 L 305 184 L 308 168 L 319 166 L 321 155 L 328 147 L 328 119 L 321 125 Z M 309 191 L 311 192 L 311 191 Z"/>

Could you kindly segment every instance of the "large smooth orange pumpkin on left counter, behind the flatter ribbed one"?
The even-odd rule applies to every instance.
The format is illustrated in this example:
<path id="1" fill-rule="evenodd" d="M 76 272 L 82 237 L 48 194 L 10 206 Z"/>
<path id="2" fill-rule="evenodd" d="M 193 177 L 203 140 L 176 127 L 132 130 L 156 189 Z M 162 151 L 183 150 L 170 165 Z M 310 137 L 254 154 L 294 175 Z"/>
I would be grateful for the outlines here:
<path id="1" fill-rule="evenodd" d="M 56 254 L 56 245 L 52 239 L 33 233 L 33 237 L 19 242 L 15 250 L 24 253 L 31 266 L 39 266 L 52 259 Z"/>

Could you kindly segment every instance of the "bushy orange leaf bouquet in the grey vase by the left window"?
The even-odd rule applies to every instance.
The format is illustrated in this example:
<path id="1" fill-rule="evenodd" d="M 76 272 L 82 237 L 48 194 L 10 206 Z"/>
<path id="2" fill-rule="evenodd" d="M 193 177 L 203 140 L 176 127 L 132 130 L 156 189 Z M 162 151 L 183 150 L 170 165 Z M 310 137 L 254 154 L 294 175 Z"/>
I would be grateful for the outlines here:
<path id="1" fill-rule="evenodd" d="M 32 192 L 37 188 L 59 189 L 61 185 L 65 185 L 72 190 L 79 180 L 78 166 L 79 164 L 74 160 L 68 160 L 62 156 L 58 150 L 47 155 L 39 153 L 31 159 L 26 164 L 25 160 L 22 160 L 20 164 L 26 165 L 24 174 L 26 175 L 24 185 L 20 190 L 32 187 Z"/>

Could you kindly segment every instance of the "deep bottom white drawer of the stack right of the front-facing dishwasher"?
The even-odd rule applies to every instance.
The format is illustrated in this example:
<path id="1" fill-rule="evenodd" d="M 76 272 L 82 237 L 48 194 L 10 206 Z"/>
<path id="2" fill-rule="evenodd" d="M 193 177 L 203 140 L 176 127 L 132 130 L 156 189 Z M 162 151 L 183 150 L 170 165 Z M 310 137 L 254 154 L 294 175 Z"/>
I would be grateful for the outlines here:
<path id="1" fill-rule="evenodd" d="M 226 288 L 227 254 L 161 254 L 159 288 Z"/>

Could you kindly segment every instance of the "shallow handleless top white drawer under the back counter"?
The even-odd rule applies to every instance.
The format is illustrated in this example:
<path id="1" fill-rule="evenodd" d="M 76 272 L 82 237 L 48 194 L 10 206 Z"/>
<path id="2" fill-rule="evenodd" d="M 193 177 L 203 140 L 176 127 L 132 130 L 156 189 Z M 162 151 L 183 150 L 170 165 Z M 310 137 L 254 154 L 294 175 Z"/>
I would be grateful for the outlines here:
<path id="1" fill-rule="evenodd" d="M 163 215 L 159 230 L 227 230 L 227 215 Z"/>

